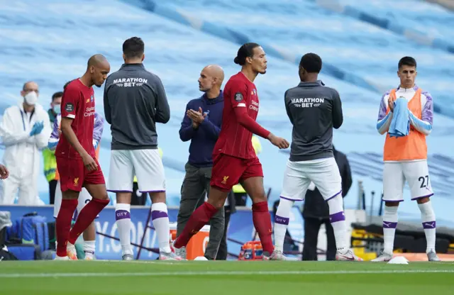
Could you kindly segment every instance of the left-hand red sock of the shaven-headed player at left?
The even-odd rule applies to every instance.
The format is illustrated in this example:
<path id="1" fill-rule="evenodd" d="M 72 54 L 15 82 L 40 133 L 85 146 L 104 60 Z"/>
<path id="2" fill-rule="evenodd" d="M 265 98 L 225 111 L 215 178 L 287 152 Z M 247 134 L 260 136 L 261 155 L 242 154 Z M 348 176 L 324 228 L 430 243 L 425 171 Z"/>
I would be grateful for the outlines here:
<path id="1" fill-rule="evenodd" d="M 55 221 L 55 231 L 57 232 L 57 255 L 60 257 L 65 257 L 67 255 L 66 245 L 68 243 L 68 233 L 70 233 L 71 220 L 76 207 L 77 199 L 62 199 L 57 221 Z"/>

